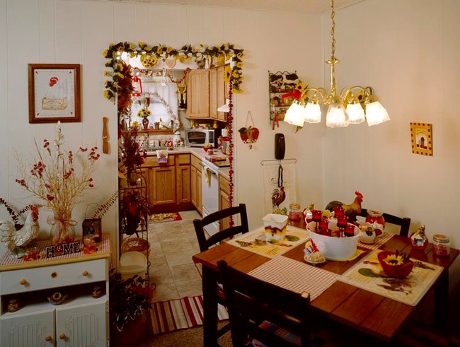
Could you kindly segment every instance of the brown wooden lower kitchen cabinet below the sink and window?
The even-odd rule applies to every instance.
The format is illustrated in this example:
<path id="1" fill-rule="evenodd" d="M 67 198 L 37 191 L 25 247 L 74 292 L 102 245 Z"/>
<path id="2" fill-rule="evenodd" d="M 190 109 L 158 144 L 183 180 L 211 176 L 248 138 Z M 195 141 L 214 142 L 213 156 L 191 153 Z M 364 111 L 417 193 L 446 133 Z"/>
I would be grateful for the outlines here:
<path id="1" fill-rule="evenodd" d="M 158 163 L 156 156 L 147 157 L 142 170 L 148 177 L 147 191 L 154 213 L 192 208 L 190 153 L 168 153 L 167 163 Z"/>

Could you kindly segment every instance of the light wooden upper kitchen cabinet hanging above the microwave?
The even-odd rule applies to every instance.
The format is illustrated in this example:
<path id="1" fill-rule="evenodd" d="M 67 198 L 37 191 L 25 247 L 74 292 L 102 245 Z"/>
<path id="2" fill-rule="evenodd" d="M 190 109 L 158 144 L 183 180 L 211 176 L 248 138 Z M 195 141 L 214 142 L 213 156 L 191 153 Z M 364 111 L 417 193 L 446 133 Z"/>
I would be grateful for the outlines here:
<path id="1" fill-rule="evenodd" d="M 217 111 L 228 98 L 229 84 L 224 80 L 224 71 L 225 66 L 219 66 L 188 73 L 186 117 L 226 122 L 225 112 Z"/>

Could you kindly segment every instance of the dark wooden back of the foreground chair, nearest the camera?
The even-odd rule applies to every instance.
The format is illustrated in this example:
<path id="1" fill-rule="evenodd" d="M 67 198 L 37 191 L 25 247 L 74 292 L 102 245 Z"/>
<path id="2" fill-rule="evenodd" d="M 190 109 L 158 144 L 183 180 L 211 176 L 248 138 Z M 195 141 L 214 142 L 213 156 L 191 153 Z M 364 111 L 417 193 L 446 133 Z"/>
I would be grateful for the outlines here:
<path id="1" fill-rule="evenodd" d="M 260 281 L 227 266 L 224 260 L 217 264 L 234 346 L 243 346 L 248 336 L 268 346 L 310 346 L 309 293 L 294 293 Z"/>

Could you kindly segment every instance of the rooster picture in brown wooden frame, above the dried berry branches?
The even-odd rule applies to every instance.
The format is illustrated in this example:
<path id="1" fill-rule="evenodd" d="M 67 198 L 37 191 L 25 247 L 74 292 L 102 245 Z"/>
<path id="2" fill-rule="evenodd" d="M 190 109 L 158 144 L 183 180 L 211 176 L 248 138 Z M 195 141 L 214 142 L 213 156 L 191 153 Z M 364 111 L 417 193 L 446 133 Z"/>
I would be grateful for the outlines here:
<path id="1" fill-rule="evenodd" d="M 28 64 L 29 123 L 81 122 L 80 65 Z"/>

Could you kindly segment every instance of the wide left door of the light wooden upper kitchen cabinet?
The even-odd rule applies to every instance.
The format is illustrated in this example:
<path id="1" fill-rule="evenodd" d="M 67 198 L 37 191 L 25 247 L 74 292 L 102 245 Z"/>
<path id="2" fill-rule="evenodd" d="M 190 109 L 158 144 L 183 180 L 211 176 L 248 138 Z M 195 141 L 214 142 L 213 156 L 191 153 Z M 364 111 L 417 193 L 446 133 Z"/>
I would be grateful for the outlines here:
<path id="1" fill-rule="evenodd" d="M 209 70 L 191 70 L 187 74 L 188 118 L 209 118 Z"/>

